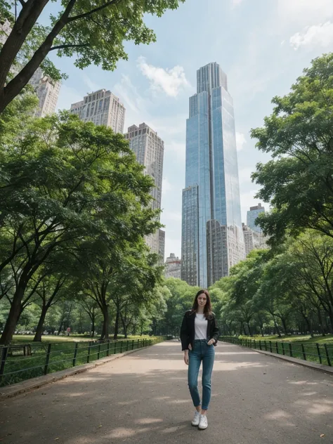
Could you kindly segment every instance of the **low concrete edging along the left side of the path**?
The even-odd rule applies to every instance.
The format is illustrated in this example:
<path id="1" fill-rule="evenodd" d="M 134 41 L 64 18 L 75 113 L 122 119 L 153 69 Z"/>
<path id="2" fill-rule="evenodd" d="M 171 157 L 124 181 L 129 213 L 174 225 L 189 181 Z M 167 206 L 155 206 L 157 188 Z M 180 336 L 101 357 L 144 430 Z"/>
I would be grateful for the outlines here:
<path id="1" fill-rule="evenodd" d="M 123 356 L 130 355 L 131 353 L 135 353 L 136 351 L 145 350 L 145 348 L 149 347 L 152 346 L 136 348 L 135 350 L 130 350 L 130 351 L 124 351 L 124 353 L 117 353 L 116 355 L 107 356 L 107 358 L 102 358 L 100 360 L 93 361 L 93 363 L 77 365 L 77 367 L 72 367 L 67 370 L 60 370 L 59 372 L 46 374 L 44 376 L 39 376 L 37 378 L 27 379 L 27 381 L 18 382 L 17 384 L 13 384 L 11 386 L 1 387 L 0 402 L 8 398 L 13 398 L 14 396 L 18 396 L 22 393 L 28 393 L 30 391 L 40 389 L 41 387 L 51 384 L 52 382 L 60 381 L 61 379 L 73 376 L 74 374 L 87 372 L 88 370 L 91 370 L 95 367 L 99 367 L 100 365 L 110 363 L 110 361 L 112 360 L 122 358 Z"/>

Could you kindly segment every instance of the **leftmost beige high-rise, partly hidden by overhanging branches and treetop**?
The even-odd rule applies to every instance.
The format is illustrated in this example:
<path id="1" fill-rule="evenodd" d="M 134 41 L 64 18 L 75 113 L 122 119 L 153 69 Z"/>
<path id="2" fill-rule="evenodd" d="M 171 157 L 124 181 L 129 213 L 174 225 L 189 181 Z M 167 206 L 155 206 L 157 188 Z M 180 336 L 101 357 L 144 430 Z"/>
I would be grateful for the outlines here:
<path id="1" fill-rule="evenodd" d="M 61 86 L 60 81 L 52 80 L 50 77 L 44 75 L 41 68 L 38 68 L 29 83 L 33 86 L 39 98 L 39 107 L 35 115 L 44 117 L 53 114 L 58 103 Z"/>

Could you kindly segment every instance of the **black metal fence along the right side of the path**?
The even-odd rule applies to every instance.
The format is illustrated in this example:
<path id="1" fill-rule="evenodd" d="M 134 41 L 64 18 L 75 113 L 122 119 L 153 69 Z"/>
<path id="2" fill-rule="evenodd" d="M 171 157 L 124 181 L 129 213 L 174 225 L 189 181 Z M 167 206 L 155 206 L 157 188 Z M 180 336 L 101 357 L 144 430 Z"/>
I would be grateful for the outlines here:
<path id="1" fill-rule="evenodd" d="M 266 341 L 265 339 L 249 339 L 230 336 L 221 336 L 220 341 L 230 342 L 239 346 L 269 351 L 278 355 L 291 356 L 314 363 L 333 365 L 333 343 L 293 343 L 287 341 Z"/>

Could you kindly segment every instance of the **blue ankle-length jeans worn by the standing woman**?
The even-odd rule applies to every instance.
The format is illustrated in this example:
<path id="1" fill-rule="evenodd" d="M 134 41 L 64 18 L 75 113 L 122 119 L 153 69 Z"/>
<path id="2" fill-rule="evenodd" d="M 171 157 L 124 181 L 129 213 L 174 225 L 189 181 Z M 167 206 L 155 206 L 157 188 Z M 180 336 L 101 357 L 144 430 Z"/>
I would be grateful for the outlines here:
<path id="1" fill-rule="evenodd" d="M 200 395 L 197 389 L 197 377 L 202 361 L 202 410 L 207 410 L 211 400 L 211 372 L 213 371 L 215 350 L 207 345 L 206 339 L 196 340 L 193 350 L 188 351 L 188 388 L 193 405 L 200 405 Z"/>

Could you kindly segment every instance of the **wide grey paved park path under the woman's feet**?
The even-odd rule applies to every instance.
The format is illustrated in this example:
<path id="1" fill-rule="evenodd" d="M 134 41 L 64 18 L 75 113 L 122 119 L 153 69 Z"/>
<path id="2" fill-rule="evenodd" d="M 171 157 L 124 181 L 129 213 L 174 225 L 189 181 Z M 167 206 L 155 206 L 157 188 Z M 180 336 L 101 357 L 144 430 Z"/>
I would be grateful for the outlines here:
<path id="1" fill-rule="evenodd" d="M 165 342 L 8 399 L 0 442 L 333 443 L 332 375 L 220 343 L 209 428 L 198 431 L 182 357 Z"/>

